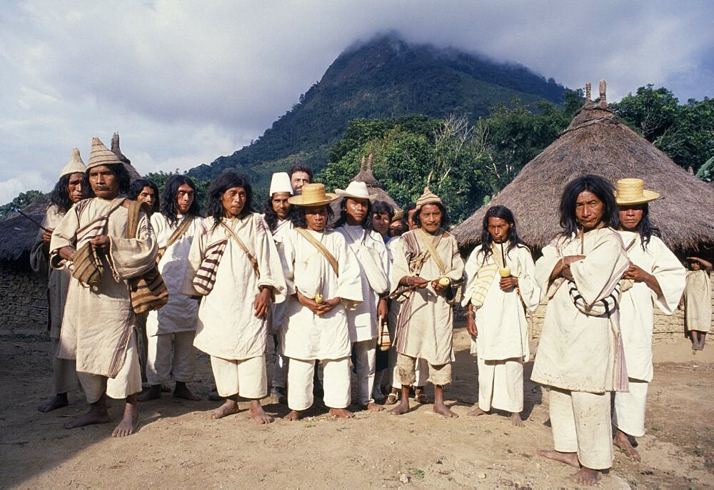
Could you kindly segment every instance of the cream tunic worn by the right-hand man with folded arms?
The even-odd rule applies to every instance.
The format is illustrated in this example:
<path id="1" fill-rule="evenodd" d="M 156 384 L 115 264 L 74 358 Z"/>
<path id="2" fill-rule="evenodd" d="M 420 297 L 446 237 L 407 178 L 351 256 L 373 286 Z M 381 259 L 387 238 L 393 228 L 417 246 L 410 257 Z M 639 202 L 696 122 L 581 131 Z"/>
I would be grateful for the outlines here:
<path id="1" fill-rule="evenodd" d="M 560 257 L 585 255 L 573 262 L 570 271 L 575 285 L 588 305 L 610 295 L 614 282 L 628 267 L 620 235 L 610 228 L 591 230 L 580 237 L 556 238 L 543 248 L 535 262 L 535 280 L 543 295 L 548 294 L 549 277 Z M 610 287 L 608 289 L 608 287 Z M 580 312 L 563 283 L 548 301 L 543 332 L 535 355 L 531 379 L 561 389 L 602 393 L 615 388 L 615 333 L 610 320 Z"/>

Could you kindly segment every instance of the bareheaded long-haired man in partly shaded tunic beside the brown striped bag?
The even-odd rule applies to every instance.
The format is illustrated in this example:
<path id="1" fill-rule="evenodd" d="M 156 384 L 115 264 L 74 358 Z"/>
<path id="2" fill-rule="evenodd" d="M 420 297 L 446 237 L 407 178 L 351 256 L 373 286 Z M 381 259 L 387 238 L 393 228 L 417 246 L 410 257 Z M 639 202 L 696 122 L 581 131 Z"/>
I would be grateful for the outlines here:
<path id="1" fill-rule="evenodd" d="M 193 380 L 196 348 L 193 337 L 198 321 L 198 302 L 181 292 L 188 252 L 200 228 L 196 185 L 185 175 L 171 175 L 161 195 L 161 212 L 151 215 L 159 245 L 159 272 L 169 290 L 169 302 L 149 312 L 146 319 L 149 389 L 139 402 L 161 397 L 161 385 L 176 380 L 174 397 L 200 400 L 186 383 Z M 172 348 L 173 344 L 173 348 Z"/>

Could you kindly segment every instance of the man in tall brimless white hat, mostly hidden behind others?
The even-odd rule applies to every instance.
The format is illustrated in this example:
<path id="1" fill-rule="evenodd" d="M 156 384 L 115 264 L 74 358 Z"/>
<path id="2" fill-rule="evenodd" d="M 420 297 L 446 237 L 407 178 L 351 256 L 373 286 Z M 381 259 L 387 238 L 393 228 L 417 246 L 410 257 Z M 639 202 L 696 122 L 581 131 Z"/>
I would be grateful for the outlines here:
<path id="1" fill-rule="evenodd" d="M 263 205 L 263 218 L 265 218 L 268 228 L 273 235 L 273 242 L 278 249 L 281 262 L 284 261 L 283 237 L 289 230 L 293 229 L 291 217 L 293 205 L 288 202 L 293 195 L 293 188 L 290 184 L 290 176 L 286 172 L 273 173 L 271 178 L 268 200 Z M 285 318 L 288 302 L 283 301 L 273 304 L 270 320 L 270 334 L 273 336 L 275 344 L 275 365 L 273 367 L 273 379 L 271 380 L 271 398 L 276 403 L 287 403 L 286 388 L 288 386 L 288 358 L 282 353 L 283 347 L 280 344 L 281 326 Z"/>

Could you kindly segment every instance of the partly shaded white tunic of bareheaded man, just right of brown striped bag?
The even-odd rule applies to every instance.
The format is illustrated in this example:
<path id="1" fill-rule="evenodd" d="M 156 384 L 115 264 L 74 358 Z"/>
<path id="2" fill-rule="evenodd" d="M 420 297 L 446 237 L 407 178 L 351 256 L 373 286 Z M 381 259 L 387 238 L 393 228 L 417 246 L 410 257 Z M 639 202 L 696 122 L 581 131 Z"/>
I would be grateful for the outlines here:
<path id="1" fill-rule="evenodd" d="M 171 234 L 178 228 L 186 216 L 178 215 L 176 225 L 169 225 L 169 220 L 161 213 L 151 215 L 151 226 L 156 233 L 156 242 L 159 248 L 166 247 Z M 159 272 L 164 277 L 166 289 L 169 290 L 169 302 L 159 310 L 149 312 L 146 318 L 146 334 L 154 335 L 173 334 L 176 332 L 191 332 L 196 330 L 198 321 L 198 302 L 181 292 L 183 277 L 186 275 L 188 252 L 191 251 L 193 236 L 196 235 L 201 225 L 200 218 L 193 218 L 183 236 L 176 240 L 164 252 L 159 262 Z"/>

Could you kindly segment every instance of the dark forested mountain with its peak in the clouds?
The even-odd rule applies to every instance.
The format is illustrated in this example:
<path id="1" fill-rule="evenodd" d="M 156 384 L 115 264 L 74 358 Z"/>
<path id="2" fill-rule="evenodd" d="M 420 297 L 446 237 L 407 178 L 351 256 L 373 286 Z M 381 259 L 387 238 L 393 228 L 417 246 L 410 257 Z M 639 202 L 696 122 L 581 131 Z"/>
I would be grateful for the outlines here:
<path id="1" fill-rule="evenodd" d="M 341 53 L 321 81 L 250 146 L 188 174 L 213 178 L 235 168 L 263 188 L 272 172 L 293 161 L 316 169 L 326 165 L 329 146 L 354 118 L 456 113 L 475 121 L 491 106 L 514 97 L 526 104 L 540 99 L 561 103 L 564 90 L 553 78 L 546 80 L 525 66 L 407 44 L 393 34 L 378 36 Z"/>

